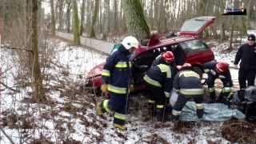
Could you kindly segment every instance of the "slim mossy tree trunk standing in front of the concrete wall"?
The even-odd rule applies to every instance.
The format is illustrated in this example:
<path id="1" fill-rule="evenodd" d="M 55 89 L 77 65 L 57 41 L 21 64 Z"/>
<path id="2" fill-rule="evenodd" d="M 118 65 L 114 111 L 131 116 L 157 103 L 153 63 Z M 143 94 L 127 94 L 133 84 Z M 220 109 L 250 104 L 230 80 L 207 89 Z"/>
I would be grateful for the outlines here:
<path id="1" fill-rule="evenodd" d="M 76 0 L 72 0 L 72 7 L 73 7 L 73 42 L 74 45 L 80 45 L 80 30 L 79 30 L 79 18 L 78 18 L 78 3 Z"/>

